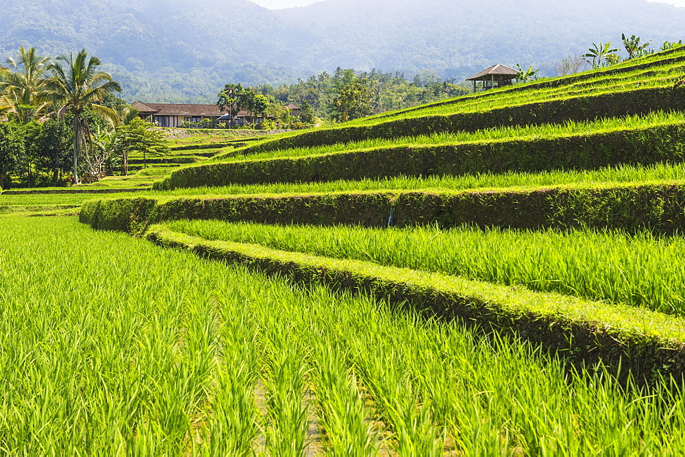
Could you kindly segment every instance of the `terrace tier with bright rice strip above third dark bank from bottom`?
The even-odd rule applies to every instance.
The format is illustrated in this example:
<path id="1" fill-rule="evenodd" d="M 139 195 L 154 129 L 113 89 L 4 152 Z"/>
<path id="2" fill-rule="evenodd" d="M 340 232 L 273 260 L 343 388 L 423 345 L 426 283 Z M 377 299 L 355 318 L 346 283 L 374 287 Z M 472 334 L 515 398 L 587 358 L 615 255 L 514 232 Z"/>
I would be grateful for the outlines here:
<path id="1" fill-rule="evenodd" d="M 223 158 L 225 163 L 210 162 L 175 171 L 158 187 L 539 172 L 680 162 L 685 151 L 682 123 L 680 113 L 655 112 L 588 123 L 371 139 L 264 153 L 250 154 L 247 147 L 239 155 Z M 255 149 L 259 151 L 260 147 Z"/>

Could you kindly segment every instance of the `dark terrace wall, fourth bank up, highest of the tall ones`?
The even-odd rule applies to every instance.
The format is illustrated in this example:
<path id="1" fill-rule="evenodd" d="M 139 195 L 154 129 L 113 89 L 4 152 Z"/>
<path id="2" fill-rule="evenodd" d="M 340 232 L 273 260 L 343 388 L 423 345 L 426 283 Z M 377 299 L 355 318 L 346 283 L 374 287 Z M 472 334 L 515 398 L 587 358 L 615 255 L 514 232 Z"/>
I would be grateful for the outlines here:
<path id="1" fill-rule="evenodd" d="M 369 138 L 397 138 L 436 132 L 475 132 L 479 129 L 502 126 L 561 123 L 569 120 L 593 121 L 608 117 L 647 114 L 658 110 L 684 109 L 685 86 L 645 88 L 528 103 L 484 112 L 462 112 L 397 119 L 375 125 L 316 129 L 255 145 L 249 152 L 336 145 Z"/>

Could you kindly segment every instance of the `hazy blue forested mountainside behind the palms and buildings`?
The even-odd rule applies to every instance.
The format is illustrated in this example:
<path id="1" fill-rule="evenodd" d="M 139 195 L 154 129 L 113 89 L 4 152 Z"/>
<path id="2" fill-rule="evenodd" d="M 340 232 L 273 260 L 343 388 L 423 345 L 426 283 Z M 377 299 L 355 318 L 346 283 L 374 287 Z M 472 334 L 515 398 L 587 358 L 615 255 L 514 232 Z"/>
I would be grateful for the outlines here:
<path id="1" fill-rule="evenodd" d="M 125 97 L 209 101 L 227 82 L 294 82 L 336 67 L 422 69 L 458 80 L 494 62 L 556 62 L 591 42 L 683 38 L 685 8 L 646 0 L 325 0 L 266 10 L 249 0 L 25 0 L 3 5 L 0 56 L 86 47 Z"/>

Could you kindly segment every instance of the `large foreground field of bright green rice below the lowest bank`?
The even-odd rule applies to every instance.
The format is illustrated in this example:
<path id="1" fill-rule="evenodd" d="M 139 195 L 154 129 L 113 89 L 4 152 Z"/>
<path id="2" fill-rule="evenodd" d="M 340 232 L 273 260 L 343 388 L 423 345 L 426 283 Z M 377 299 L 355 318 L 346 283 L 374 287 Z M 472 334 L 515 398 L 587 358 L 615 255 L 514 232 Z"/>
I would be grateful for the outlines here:
<path id="1" fill-rule="evenodd" d="M 268 449 L 301 455 L 305 421 L 279 427 L 301 416 L 308 386 L 332 454 L 685 446 L 685 397 L 667 381 L 647 391 L 601 369 L 567 374 L 525 343 L 73 219 L 5 218 L 0 234 L 3 454 L 253 455 L 269 435 Z"/>

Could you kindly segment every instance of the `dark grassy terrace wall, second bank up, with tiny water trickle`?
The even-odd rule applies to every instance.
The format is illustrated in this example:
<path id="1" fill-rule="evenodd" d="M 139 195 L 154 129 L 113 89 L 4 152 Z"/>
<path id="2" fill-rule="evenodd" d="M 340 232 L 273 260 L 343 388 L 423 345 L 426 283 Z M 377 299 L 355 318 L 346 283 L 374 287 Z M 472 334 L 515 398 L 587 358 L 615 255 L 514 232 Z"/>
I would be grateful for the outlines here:
<path id="1" fill-rule="evenodd" d="M 684 208 L 685 185 L 649 184 L 464 193 L 122 198 L 85 203 L 81 220 L 95 228 L 131 233 L 174 219 L 223 219 L 365 227 L 596 227 L 673 234 L 685 231 Z"/>

